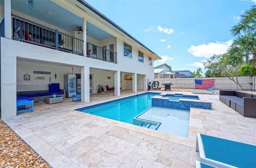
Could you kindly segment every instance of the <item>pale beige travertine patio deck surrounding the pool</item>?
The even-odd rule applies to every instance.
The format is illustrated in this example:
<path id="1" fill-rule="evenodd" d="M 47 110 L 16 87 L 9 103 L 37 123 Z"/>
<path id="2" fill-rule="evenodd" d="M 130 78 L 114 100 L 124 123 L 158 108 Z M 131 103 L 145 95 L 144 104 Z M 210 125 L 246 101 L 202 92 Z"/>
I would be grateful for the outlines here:
<path id="1" fill-rule="evenodd" d="M 218 95 L 200 95 L 213 102 L 212 110 L 191 108 L 188 138 L 73 110 L 134 93 L 121 94 L 94 94 L 90 103 L 35 103 L 33 113 L 3 121 L 56 168 L 194 167 L 196 133 L 256 145 L 256 119 L 228 108 Z"/>

